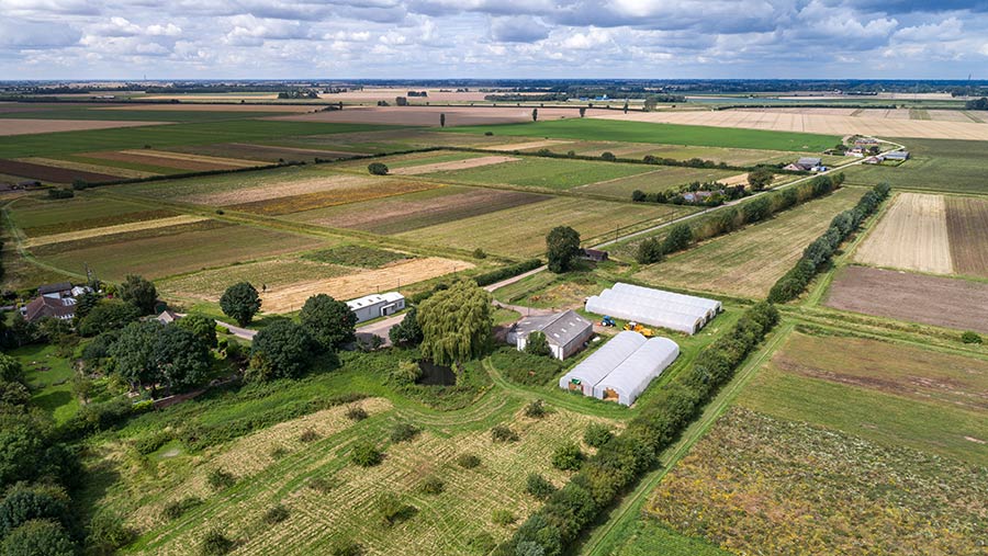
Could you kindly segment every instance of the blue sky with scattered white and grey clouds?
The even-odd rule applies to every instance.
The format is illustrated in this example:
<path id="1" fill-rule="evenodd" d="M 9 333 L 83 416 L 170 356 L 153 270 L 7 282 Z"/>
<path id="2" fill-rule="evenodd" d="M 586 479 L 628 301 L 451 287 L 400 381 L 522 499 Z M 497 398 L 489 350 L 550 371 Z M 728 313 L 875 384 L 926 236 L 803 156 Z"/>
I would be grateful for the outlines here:
<path id="1" fill-rule="evenodd" d="M 0 80 L 988 79 L 988 0 L 0 0 Z"/>

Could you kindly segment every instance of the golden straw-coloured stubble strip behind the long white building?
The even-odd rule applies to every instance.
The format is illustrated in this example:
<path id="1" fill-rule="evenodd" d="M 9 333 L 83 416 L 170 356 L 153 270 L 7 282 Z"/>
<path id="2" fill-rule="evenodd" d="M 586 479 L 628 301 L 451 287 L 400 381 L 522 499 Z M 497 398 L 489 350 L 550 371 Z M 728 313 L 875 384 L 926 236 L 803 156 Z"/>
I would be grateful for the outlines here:
<path id="1" fill-rule="evenodd" d="M 411 259 L 373 270 L 361 270 L 336 277 L 296 282 L 282 287 L 268 287 L 261 294 L 265 313 L 292 313 L 316 294 L 337 299 L 352 299 L 377 292 L 401 290 L 425 280 L 473 268 L 473 263 L 439 257 Z M 222 293 L 222 292 L 221 292 Z"/>

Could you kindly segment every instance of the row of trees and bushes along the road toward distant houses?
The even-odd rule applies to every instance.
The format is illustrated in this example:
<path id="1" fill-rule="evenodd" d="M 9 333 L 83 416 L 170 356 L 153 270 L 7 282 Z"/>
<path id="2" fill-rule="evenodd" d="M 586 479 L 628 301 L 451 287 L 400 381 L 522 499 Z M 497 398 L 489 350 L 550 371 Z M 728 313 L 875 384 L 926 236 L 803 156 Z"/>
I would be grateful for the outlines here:
<path id="1" fill-rule="evenodd" d="M 694 224 L 673 225 L 664 238 L 650 237 L 639 242 L 635 258 L 640 264 L 660 262 L 671 253 L 689 248 L 694 242 L 734 231 L 744 225 L 764 220 L 777 212 L 827 195 L 843 182 L 843 173 L 817 175 L 807 183 L 766 193 L 739 206 L 722 208 L 709 217 L 697 218 Z"/>

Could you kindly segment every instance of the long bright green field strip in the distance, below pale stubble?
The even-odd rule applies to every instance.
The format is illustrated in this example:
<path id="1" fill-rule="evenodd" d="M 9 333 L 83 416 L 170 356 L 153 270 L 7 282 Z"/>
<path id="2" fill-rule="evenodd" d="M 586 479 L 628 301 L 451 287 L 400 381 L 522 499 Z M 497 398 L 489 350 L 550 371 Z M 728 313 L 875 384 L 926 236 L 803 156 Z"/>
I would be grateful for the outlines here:
<path id="1" fill-rule="evenodd" d="M 608 140 L 628 143 L 658 143 L 663 145 L 693 145 L 698 147 L 731 147 L 744 149 L 821 151 L 838 144 L 841 138 L 790 132 L 765 132 L 731 127 L 698 125 L 650 124 L 614 120 L 572 118 L 532 124 L 503 124 L 489 126 L 451 127 L 447 133 L 483 134 L 495 136 L 551 137 L 554 139 Z"/>

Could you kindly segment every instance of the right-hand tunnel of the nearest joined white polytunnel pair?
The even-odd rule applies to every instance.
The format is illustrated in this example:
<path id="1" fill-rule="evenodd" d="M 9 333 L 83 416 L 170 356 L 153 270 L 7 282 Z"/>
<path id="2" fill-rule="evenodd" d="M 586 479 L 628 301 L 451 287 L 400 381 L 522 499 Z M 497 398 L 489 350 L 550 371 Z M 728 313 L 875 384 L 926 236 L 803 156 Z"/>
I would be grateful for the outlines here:
<path id="1" fill-rule="evenodd" d="M 594 397 L 630 406 L 680 356 L 669 338 L 652 338 L 594 386 Z"/>

